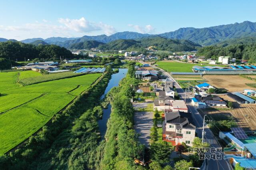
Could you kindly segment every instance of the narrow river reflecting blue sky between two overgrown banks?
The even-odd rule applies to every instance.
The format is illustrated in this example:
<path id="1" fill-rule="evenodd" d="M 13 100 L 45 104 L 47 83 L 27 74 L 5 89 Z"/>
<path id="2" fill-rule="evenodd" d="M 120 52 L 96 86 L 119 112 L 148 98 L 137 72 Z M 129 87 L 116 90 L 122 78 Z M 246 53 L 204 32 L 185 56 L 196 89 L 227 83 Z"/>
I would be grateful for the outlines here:
<path id="1" fill-rule="evenodd" d="M 119 72 L 116 74 L 112 74 L 111 79 L 108 82 L 108 86 L 104 92 L 104 94 L 100 97 L 100 99 L 104 99 L 105 95 L 109 92 L 109 90 L 114 87 L 118 86 L 120 80 L 122 80 L 126 74 L 127 74 L 128 69 L 127 68 L 119 68 Z M 110 117 L 111 113 L 111 105 L 108 104 L 107 109 L 103 109 L 103 115 L 102 119 L 98 121 L 99 123 L 99 129 L 100 129 L 100 136 L 102 139 L 104 139 L 105 133 L 107 131 L 107 122 L 108 118 Z"/>

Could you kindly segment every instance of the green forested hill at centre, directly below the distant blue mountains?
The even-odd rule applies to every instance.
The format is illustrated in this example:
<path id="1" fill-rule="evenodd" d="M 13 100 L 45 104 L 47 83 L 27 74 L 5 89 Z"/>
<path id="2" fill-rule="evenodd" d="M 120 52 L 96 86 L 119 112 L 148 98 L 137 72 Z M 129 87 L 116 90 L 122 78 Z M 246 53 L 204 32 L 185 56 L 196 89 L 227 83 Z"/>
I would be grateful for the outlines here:
<path id="1" fill-rule="evenodd" d="M 138 50 L 141 48 L 153 47 L 166 51 L 193 51 L 201 45 L 188 40 L 167 39 L 163 37 L 143 38 L 139 40 L 119 39 L 105 45 L 100 45 L 101 50 Z"/>

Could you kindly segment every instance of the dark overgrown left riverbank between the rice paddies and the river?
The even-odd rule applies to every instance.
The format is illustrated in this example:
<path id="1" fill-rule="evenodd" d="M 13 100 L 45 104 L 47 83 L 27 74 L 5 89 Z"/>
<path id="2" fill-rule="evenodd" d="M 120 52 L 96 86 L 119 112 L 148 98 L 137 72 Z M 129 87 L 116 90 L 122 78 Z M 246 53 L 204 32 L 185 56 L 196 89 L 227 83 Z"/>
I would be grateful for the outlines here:
<path id="1" fill-rule="evenodd" d="M 55 114 L 50 122 L 26 142 L 0 156 L 2 169 L 95 169 L 100 142 L 99 98 L 111 78 L 107 68 L 102 79 Z"/>

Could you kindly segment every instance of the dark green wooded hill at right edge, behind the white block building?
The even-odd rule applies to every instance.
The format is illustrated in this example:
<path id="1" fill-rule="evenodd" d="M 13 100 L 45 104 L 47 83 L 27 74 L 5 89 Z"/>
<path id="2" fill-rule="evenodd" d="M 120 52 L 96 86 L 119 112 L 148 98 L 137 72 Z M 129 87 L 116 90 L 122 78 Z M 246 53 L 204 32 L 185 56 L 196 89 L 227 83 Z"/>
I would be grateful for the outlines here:
<path id="1" fill-rule="evenodd" d="M 222 46 L 207 46 L 200 48 L 197 53 L 199 56 L 206 58 L 215 58 L 219 56 L 230 56 L 231 58 L 249 60 L 250 63 L 256 63 L 256 43 L 238 44 Z"/>

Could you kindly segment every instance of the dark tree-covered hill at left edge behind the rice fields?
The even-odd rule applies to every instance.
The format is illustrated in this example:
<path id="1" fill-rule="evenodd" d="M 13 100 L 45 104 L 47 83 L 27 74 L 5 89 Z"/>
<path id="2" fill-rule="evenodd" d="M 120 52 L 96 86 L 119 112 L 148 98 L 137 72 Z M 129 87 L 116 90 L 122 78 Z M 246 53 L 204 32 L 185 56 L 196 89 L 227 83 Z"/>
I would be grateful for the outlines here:
<path id="1" fill-rule="evenodd" d="M 72 53 L 64 47 L 58 45 L 32 45 L 21 42 L 6 41 L 0 43 L 0 58 L 13 61 L 24 61 L 24 59 L 50 59 L 61 57 L 73 58 Z"/>

